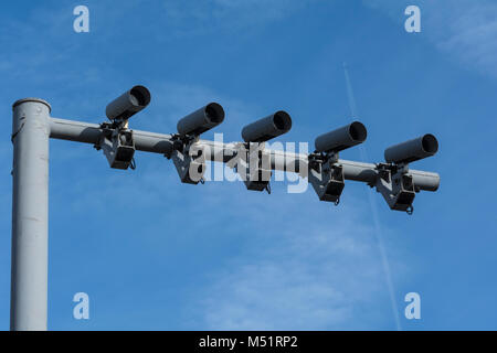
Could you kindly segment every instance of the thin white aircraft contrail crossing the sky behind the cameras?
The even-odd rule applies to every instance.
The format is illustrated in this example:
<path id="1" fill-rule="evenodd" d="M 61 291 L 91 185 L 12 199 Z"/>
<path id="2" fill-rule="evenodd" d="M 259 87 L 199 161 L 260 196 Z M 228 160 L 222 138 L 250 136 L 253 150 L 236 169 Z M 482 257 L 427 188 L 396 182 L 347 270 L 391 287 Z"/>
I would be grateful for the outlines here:
<path id="1" fill-rule="evenodd" d="M 350 82 L 347 63 L 343 63 L 343 73 L 345 73 L 346 85 L 347 85 L 347 96 L 349 98 L 350 114 L 352 115 L 353 118 L 358 118 L 356 99 L 353 97 L 353 89 L 352 89 L 352 84 Z M 362 145 L 359 146 L 359 150 L 361 153 L 362 161 L 368 161 L 368 153 L 367 153 L 366 149 L 362 147 Z M 387 250 L 383 245 L 383 237 L 381 235 L 382 234 L 381 233 L 381 223 L 380 223 L 380 218 L 378 216 L 378 206 L 372 196 L 371 190 L 368 191 L 368 199 L 369 199 L 369 204 L 371 206 L 371 212 L 372 212 L 372 216 L 373 216 L 374 236 L 377 238 L 378 247 L 380 248 L 381 263 L 382 263 L 383 271 L 385 275 L 387 286 L 389 288 L 390 303 L 392 306 L 392 311 L 393 311 L 393 317 L 395 319 L 396 330 L 402 331 L 402 327 L 401 327 L 400 318 L 399 318 L 399 308 L 398 308 L 396 301 L 395 301 L 395 288 L 393 286 L 392 275 L 390 271 L 390 263 L 389 263 L 389 259 L 387 256 Z"/>

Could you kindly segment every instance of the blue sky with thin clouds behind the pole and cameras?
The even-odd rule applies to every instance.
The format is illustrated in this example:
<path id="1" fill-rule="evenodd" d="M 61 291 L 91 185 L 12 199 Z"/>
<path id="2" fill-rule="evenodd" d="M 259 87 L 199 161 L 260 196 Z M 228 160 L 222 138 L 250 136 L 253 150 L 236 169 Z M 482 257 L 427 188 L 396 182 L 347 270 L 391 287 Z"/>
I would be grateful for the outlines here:
<path id="1" fill-rule="evenodd" d="M 73 31 L 74 7 L 91 32 Z M 422 32 L 406 33 L 408 4 Z M 487 0 L 15 1 L 0 13 L 0 329 L 9 328 L 11 105 L 35 96 L 59 118 L 101 122 L 133 86 L 152 94 L 133 128 L 175 132 L 209 101 L 226 141 L 287 110 L 282 141 L 313 141 L 350 120 L 347 62 L 368 159 L 435 133 L 436 193 L 413 216 L 348 182 L 341 204 L 309 189 L 184 185 L 171 161 L 137 152 L 110 170 L 92 146 L 51 141 L 49 329 L 497 329 L 495 141 L 497 4 Z M 213 132 L 204 138 L 212 138 Z M 360 160 L 358 149 L 346 159 Z M 376 223 L 373 210 L 378 208 Z M 380 243 L 379 243 L 379 239 Z M 393 300 L 382 265 L 387 254 Z M 87 292 L 91 319 L 74 320 Z M 421 295 L 421 320 L 403 315 Z"/>

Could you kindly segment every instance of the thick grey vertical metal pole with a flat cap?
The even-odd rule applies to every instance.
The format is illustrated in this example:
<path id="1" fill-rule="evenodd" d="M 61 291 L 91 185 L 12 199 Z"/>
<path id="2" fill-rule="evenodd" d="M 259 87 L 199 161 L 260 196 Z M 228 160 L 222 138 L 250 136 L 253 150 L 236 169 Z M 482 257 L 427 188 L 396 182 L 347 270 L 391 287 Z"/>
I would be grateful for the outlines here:
<path id="1" fill-rule="evenodd" d="M 10 329 L 46 330 L 50 105 L 14 103 Z"/>

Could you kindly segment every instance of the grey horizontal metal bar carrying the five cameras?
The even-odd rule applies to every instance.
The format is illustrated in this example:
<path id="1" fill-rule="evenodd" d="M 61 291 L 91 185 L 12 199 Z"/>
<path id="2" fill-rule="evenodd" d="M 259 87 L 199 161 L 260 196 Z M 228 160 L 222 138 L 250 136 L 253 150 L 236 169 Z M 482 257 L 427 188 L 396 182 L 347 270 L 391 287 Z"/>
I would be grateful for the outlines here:
<path id="1" fill-rule="evenodd" d="M 98 124 L 82 122 L 51 118 L 50 137 L 54 139 L 98 143 L 103 130 Z M 133 130 L 135 138 L 135 148 L 138 151 L 168 154 L 172 151 L 172 136 L 167 133 L 156 133 L 149 131 Z M 239 151 L 241 142 L 224 143 L 220 141 L 199 140 L 195 145 L 208 150 L 211 161 L 229 162 Z M 279 150 L 264 150 L 269 154 L 271 168 L 281 171 L 295 171 L 305 176 L 308 167 L 308 157 L 303 153 L 286 152 Z M 348 160 L 338 160 L 343 167 L 343 178 L 369 184 L 376 183 L 378 178 L 378 168 L 373 163 L 363 163 Z M 420 190 L 436 191 L 440 185 L 440 175 L 437 173 L 410 170 L 414 184 Z"/>

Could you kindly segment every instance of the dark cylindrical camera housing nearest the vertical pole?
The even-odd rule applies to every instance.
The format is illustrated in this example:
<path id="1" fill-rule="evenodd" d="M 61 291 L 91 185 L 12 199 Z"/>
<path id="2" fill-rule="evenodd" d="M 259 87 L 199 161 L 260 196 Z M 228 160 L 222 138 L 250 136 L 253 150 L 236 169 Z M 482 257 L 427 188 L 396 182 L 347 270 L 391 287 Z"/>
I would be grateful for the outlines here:
<path id="1" fill-rule="evenodd" d="M 125 120 L 144 109 L 150 103 L 150 92 L 135 86 L 107 105 L 105 114 L 110 120 Z"/>

